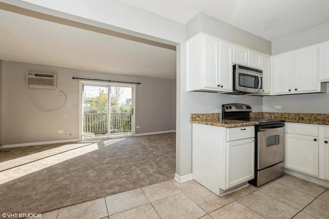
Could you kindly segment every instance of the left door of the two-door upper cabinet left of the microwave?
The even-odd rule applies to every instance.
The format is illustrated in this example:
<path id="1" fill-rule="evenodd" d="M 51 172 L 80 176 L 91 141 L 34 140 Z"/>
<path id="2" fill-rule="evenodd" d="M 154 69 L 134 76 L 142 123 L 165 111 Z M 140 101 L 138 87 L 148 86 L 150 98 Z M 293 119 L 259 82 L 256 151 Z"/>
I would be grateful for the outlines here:
<path id="1" fill-rule="evenodd" d="M 204 46 L 204 87 L 219 88 L 218 49 L 219 41 L 211 36 L 203 36 Z"/>

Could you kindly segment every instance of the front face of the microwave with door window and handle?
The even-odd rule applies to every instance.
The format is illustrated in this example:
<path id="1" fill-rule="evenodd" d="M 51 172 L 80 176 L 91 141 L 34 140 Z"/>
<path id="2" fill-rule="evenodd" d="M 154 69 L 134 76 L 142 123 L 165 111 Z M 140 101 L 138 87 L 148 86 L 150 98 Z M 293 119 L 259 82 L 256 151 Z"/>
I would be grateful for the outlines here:
<path id="1" fill-rule="evenodd" d="M 244 71 L 235 71 L 235 88 L 247 93 L 263 93 L 263 74 Z"/>

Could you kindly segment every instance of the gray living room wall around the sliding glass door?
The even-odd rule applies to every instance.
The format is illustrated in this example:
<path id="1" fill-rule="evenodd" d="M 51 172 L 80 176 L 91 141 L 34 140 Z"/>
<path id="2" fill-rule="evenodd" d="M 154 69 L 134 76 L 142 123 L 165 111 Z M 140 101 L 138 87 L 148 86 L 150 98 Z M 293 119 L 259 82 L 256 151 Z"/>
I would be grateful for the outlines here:
<path id="1" fill-rule="evenodd" d="M 4 145 L 79 138 L 79 81 L 73 76 L 140 82 L 136 86 L 136 124 L 140 126 L 136 133 L 175 130 L 175 80 L 7 61 L 3 61 L 2 70 Z M 55 73 L 57 88 L 26 88 L 27 71 Z M 44 109 L 56 109 L 64 103 L 59 91 L 66 93 L 67 101 L 62 109 L 53 112 L 38 110 L 30 98 L 31 95 Z M 71 136 L 58 134 L 58 130 L 67 130 Z"/>

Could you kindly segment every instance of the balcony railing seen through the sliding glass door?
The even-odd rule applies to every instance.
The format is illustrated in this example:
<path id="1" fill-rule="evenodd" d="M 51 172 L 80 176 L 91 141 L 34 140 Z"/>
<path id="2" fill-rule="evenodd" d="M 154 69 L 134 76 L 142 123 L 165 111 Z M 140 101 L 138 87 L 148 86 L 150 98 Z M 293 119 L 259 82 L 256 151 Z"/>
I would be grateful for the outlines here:
<path id="1" fill-rule="evenodd" d="M 131 113 L 111 113 L 109 132 L 124 133 L 132 131 Z M 83 133 L 106 134 L 108 133 L 107 113 L 84 113 L 83 114 Z"/>

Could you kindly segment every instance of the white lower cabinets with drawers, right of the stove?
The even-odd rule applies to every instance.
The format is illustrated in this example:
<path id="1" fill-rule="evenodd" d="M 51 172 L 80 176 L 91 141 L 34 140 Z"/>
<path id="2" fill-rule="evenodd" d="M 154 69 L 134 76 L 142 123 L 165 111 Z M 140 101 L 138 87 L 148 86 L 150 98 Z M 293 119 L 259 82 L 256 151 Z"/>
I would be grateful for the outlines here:
<path id="1" fill-rule="evenodd" d="M 286 123 L 284 165 L 329 181 L 329 126 Z"/>

